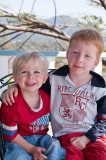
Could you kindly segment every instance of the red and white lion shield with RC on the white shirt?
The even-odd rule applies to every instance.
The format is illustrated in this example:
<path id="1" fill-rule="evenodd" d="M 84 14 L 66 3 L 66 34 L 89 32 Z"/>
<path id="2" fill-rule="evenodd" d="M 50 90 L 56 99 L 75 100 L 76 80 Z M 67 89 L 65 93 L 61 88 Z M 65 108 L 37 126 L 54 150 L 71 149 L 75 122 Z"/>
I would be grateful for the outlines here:
<path id="1" fill-rule="evenodd" d="M 62 118 L 72 123 L 83 121 L 86 117 L 88 99 L 75 95 L 62 94 L 59 112 Z"/>

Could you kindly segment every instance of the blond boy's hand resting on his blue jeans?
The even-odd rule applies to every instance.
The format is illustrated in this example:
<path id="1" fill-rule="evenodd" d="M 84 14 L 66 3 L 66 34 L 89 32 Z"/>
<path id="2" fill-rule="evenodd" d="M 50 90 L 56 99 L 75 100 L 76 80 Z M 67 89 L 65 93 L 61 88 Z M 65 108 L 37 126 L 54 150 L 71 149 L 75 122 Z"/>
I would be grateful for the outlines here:
<path id="1" fill-rule="evenodd" d="M 47 159 L 47 156 L 42 154 L 42 152 L 45 152 L 45 151 L 46 151 L 45 148 L 34 146 L 33 149 L 31 150 L 30 155 L 32 156 L 33 160 L 45 160 L 45 159 Z"/>

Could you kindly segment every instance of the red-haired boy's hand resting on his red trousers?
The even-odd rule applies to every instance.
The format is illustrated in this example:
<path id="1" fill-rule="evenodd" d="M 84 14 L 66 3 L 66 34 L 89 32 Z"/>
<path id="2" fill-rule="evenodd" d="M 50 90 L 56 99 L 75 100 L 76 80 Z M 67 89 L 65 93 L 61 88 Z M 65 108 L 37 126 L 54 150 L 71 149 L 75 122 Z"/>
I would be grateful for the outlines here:
<path id="1" fill-rule="evenodd" d="M 70 139 L 70 144 L 80 150 L 83 150 L 89 142 L 91 142 L 91 140 L 84 135 L 81 137 L 74 137 Z"/>

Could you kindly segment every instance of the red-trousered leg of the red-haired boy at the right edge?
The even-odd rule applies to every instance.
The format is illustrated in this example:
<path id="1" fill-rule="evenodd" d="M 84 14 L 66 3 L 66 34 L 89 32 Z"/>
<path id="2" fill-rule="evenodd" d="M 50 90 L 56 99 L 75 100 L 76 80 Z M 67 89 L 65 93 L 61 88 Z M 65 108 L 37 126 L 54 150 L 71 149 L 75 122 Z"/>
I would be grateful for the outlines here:
<path id="1" fill-rule="evenodd" d="M 106 160 L 106 142 L 101 138 L 84 149 L 85 160 Z"/>

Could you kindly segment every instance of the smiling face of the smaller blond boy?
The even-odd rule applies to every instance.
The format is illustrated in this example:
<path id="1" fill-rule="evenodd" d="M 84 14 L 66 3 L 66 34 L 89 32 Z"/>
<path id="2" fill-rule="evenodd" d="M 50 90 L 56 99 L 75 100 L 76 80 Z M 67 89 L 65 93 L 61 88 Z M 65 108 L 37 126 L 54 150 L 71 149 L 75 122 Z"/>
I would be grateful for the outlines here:
<path id="1" fill-rule="evenodd" d="M 23 67 L 19 67 L 17 76 L 13 75 L 22 92 L 35 92 L 46 82 L 48 74 L 45 73 L 41 63 L 35 63 L 33 59 Z"/>

